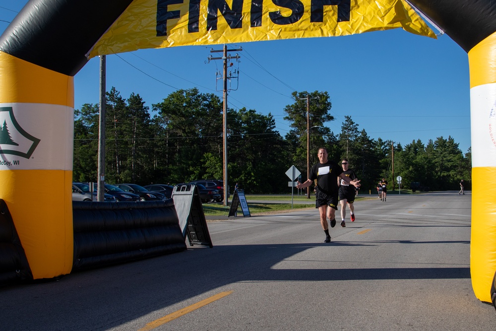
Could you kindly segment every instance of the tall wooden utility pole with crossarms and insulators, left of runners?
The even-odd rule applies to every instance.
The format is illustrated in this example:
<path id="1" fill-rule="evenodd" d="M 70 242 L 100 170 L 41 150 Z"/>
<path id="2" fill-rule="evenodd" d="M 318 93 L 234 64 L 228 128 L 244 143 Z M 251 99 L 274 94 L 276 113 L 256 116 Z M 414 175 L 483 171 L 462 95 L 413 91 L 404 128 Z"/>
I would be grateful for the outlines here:
<path id="1" fill-rule="evenodd" d="M 237 73 L 235 73 L 235 76 L 232 75 L 232 72 L 230 72 L 229 77 L 227 74 L 227 61 L 231 59 L 236 59 L 238 60 L 240 56 L 236 54 L 236 56 L 231 57 L 228 55 L 227 52 L 236 52 L 236 51 L 243 51 L 243 49 L 240 47 L 239 49 L 234 49 L 234 50 L 228 50 L 227 46 L 224 45 L 223 50 L 210 50 L 210 53 L 217 53 L 217 52 L 223 52 L 222 58 L 213 58 L 212 56 L 208 57 L 208 62 L 210 60 L 223 60 L 224 61 L 224 69 L 222 72 L 221 79 L 223 80 L 223 114 L 222 114 L 222 132 L 223 132 L 223 142 L 222 142 L 222 148 L 223 148 L 223 165 L 224 165 L 224 205 L 227 206 L 228 204 L 228 197 L 229 197 L 229 183 L 228 183 L 228 176 L 227 176 L 227 92 L 228 92 L 228 87 L 227 87 L 227 80 L 231 81 L 231 78 L 238 78 L 236 74 L 239 74 L 239 70 Z M 230 66 L 233 66 L 231 63 Z M 219 79 L 219 78 L 217 78 Z M 237 89 L 237 88 L 236 88 Z M 231 89 L 229 89 L 231 90 Z"/>

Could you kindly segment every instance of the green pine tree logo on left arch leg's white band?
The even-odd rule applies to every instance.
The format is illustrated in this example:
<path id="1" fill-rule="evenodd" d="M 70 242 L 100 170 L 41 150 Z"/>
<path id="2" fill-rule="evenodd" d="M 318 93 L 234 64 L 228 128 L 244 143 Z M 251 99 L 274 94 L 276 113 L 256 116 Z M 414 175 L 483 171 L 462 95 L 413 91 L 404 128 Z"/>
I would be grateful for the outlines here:
<path id="1" fill-rule="evenodd" d="M 12 154 L 29 159 L 40 139 L 21 128 L 12 107 L 0 107 L 0 154 Z"/>

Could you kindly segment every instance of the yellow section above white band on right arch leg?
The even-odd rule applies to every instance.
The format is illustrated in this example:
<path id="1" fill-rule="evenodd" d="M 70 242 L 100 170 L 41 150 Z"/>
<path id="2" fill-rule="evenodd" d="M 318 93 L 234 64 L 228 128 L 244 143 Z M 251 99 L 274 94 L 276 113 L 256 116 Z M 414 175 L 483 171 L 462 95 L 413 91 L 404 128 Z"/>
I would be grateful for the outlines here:
<path id="1" fill-rule="evenodd" d="M 496 59 L 496 32 L 468 52 L 470 88 L 496 82 L 494 59 Z"/>

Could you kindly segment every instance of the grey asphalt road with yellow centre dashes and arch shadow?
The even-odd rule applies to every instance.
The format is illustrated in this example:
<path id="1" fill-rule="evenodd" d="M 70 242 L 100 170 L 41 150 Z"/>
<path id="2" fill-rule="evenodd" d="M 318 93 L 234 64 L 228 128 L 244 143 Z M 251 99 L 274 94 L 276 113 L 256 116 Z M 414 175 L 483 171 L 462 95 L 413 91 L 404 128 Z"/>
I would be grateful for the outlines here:
<path id="1" fill-rule="evenodd" d="M 470 280 L 471 195 L 208 222 L 214 247 L 0 288 L 7 330 L 495 330 Z M 206 301 L 205 301 L 206 300 Z"/>

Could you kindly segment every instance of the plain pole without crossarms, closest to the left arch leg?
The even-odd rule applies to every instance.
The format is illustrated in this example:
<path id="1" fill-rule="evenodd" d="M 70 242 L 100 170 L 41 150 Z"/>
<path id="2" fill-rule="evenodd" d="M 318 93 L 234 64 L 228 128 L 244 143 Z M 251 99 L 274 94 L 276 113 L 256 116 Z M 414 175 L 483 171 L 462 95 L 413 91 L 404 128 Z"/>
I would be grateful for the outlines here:
<path id="1" fill-rule="evenodd" d="M 98 129 L 98 180 L 97 199 L 105 200 L 105 92 L 106 92 L 106 59 L 100 56 L 100 126 Z"/>

